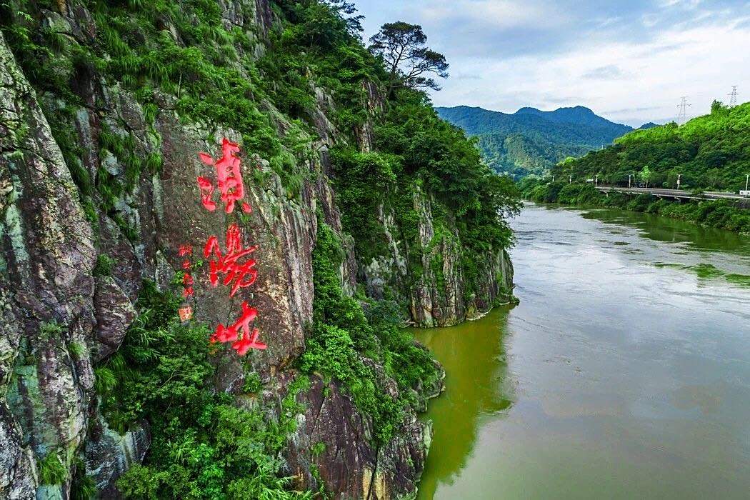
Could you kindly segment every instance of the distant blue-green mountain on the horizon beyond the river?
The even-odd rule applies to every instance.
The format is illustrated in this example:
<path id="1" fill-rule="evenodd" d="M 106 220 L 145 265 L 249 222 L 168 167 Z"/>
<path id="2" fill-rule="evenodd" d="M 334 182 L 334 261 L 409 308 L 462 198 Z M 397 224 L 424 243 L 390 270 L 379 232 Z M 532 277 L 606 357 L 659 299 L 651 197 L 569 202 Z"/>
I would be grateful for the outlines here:
<path id="1" fill-rule="evenodd" d="M 477 137 L 487 165 L 514 178 L 544 175 L 566 157 L 583 156 L 633 130 L 583 106 L 554 111 L 524 107 L 513 114 L 456 106 L 437 112 Z"/>

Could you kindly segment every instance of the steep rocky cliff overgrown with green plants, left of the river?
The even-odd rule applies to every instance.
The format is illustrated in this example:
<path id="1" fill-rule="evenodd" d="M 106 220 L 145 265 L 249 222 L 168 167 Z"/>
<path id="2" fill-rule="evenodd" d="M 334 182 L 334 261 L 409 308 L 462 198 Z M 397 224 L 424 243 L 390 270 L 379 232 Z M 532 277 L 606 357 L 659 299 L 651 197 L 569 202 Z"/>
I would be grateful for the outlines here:
<path id="1" fill-rule="evenodd" d="M 444 374 L 400 327 L 510 300 L 517 190 L 432 108 L 447 62 L 421 28 L 368 49 L 360 21 L 343 1 L 0 4 L 0 497 L 416 494 Z M 207 211 L 198 153 L 227 143 L 249 204 Z M 232 301 L 267 349 L 214 343 L 226 297 L 211 261 L 182 298 L 211 248 L 185 264 L 186 241 L 258 245 Z"/>

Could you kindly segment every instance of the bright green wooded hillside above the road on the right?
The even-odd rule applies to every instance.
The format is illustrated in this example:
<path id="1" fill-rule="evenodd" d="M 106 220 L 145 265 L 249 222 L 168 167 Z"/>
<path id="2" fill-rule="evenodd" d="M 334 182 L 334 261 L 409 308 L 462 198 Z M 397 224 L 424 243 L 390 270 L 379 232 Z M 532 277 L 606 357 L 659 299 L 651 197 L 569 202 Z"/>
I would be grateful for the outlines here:
<path id="1" fill-rule="evenodd" d="M 599 176 L 605 184 L 634 182 L 682 189 L 745 189 L 750 173 L 750 103 L 727 108 L 715 102 L 711 114 L 679 127 L 675 123 L 634 130 L 602 151 L 592 151 L 553 169 L 558 178 Z"/>

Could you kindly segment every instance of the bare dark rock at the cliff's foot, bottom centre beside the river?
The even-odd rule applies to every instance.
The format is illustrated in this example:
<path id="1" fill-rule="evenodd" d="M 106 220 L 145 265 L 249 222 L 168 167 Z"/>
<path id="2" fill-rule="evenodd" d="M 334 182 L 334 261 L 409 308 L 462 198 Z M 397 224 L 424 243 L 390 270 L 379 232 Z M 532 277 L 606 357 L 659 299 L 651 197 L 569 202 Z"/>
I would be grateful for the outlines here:
<path id="1" fill-rule="evenodd" d="M 377 371 L 381 387 L 398 396 L 395 382 L 380 367 Z M 409 410 L 393 439 L 378 447 L 372 444 L 371 418 L 356 409 L 335 381 L 313 376 L 311 388 L 296 400 L 305 412 L 285 458 L 287 473 L 299 487 L 317 491 L 323 481 L 323 488 L 337 499 L 399 499 L 416 493 L 432 439 L 431 424 L 420 422 Z"/>

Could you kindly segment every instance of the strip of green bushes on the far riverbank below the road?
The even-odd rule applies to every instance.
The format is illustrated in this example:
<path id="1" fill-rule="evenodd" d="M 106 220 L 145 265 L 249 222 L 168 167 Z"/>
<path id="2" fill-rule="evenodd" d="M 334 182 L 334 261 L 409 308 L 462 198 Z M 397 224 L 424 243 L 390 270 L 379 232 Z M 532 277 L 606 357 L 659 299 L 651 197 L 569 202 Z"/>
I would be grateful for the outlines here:
<path id="1" fill-rule="evenodd" d="M 643 194 L 627 196 L 623 193 L 600 193 L 591 184 L 566 184 L 526 180 L 521 184 L 524 199 L 533 202 L 560 203 L 579 207 L 607 207 L 660 215 L 704 227 L 750 234 L 750 210 L 736 202 L 706 200 L 701 202 L 673 202 Z"/>

